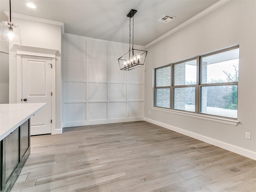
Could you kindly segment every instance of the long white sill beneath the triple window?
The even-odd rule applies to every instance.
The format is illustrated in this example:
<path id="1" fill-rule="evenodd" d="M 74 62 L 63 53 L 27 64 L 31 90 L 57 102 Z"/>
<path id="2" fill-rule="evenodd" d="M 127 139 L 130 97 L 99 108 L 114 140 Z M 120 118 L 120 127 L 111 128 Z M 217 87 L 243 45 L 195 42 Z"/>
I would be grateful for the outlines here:
<path id="1" fill-rule="evenodd" d="M 196 113 L 190 113 L 190 112 L 184 112 L 184 111 L 177 111 L 177 110 L 171 110 L 171 109 L 165 109 L 165 108 L 158 108 L 158 107 L 151 107 L 151 108 L 153 110 L 166 111 L 172 114 L 187 116 L 187 117 L 196 118 L 196 119 L 202 119 L 202 120 L 211 121 L 211 122 L 222 123 L 226 125 L 237 126 L 237 124 L 240 123 L 238 120 L 232 120 L 228 118 L 220 118 L 220 117 L 214 117 L 214 116 L 208 116 L 208 115 L 196 114 Z"/>

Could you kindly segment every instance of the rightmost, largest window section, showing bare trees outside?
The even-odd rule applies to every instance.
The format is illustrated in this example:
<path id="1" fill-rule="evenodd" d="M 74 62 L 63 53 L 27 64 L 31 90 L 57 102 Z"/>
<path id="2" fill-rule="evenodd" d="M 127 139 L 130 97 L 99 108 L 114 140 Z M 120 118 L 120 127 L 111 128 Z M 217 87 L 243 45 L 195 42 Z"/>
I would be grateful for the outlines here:
<path id="1" fill-rule="evenodd" d="M 201 113 L 237 118 L 239 48 L 201 57 Z"/>

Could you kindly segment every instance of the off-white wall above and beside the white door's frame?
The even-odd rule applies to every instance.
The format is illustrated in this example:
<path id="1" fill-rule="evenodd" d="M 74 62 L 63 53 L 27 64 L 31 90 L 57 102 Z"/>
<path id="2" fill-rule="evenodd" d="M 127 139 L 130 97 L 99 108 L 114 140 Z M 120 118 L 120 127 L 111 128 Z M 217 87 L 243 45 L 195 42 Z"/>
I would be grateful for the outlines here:
<path id="1" fill-rule="evenodd" d="M 13 14 L 14 15 L 14 14 Z M 23 46 L 31 46 L 38 48 L 48 48 L 58 50 L 56 54 L 56 130 L 62 132 L 62 31 L 61 26 L 37 22 L 12 16 L 12 21 L 20 26 L 20 35 Z M 10 86 L 9 86 L 9 102 L 17 102 L 17 58 L 16 48 L 9 50 L 9 70 L 10 70 Z"/>

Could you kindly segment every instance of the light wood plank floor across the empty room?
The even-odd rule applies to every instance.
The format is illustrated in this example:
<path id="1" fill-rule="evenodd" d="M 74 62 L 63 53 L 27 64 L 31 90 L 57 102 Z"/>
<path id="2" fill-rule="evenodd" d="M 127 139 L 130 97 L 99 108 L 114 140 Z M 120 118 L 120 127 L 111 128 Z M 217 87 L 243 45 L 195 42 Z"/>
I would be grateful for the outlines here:
<path id="1" fill-rule="evenodd" d="M 256 192 L 256 161 L 148 122 L 32 136 L 12 192 Z"/>

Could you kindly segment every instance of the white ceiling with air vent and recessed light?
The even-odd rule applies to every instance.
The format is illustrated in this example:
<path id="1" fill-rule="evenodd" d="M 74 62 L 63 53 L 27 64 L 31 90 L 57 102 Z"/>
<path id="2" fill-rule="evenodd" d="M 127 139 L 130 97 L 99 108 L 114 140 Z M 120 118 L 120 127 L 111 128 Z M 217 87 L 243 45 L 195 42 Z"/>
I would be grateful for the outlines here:
<path id="1" fill-rule="evenodd" d="M 28 8 L 33 2 L 35 9 Z M 12 12 L 64 22 L 65 32 L 129 43 L 129 18 L 134 15 L 134 44 L 145 46 L 218 0 L 12 0 Z M 0 0 L 0 16 L 9 1 Z M 176 18 L 159 22 L 165 14 Z"/>

